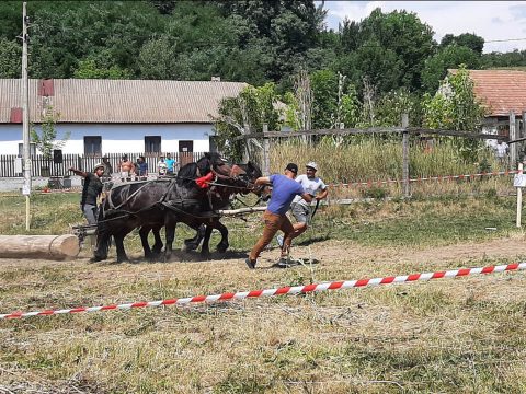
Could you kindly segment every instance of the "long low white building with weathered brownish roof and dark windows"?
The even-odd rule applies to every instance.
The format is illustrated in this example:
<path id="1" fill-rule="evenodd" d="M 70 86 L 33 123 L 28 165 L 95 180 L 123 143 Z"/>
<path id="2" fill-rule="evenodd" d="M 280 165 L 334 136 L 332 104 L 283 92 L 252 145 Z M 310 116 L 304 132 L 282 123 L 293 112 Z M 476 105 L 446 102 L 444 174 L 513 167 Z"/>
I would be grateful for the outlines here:
<path id="1" fill-rule="evenodd" d="M 214 150 L 211 116 L 240 82 L 150 80 L 30 80 L 30 121 L 57 115 L 62 152 L 205 152 Z M 50 109 L 49 109 L 50 108 Z M 22 81 L 0 79 L 0 152 L 22 153 Z M 38 153 L 38 152 L 36 152 Z"/>

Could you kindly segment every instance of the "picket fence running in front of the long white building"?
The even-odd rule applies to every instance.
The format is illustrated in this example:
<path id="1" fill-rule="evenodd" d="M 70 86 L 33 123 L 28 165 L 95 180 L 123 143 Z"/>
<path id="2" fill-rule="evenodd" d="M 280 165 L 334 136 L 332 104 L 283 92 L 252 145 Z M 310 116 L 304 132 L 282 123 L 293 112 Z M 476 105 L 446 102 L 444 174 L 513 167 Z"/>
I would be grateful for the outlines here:
<path id="1" fill-rule="evenodd" d="M 127 154 L 129 160 L 136 162 L 139 155 L 144 155 L 148 164 L 149 173 L 157 173 L 157 163 L 159 162 L 159 153 L 106 153 L 107 160 L 113 167 L 113 172 L 118 172 L 118 162 L 121 158 Z M 171 152 L 178 165 L 184 165 L 190 162 L 199 160 L 204 152 Z M 31 175 L 33 177 L 68 177 L 71 172 L 70 166 L 78 170 L 91 171 L 96 163 L 102 162 L 102 155 L 93 154 L 62 154 L 61 163 L 54 163 L 53 158 L 46 159 L 42 154 L 31 158 Z M 22 158 L 18 154 L 0 154 L 0 177 L 21 177 Z"/>

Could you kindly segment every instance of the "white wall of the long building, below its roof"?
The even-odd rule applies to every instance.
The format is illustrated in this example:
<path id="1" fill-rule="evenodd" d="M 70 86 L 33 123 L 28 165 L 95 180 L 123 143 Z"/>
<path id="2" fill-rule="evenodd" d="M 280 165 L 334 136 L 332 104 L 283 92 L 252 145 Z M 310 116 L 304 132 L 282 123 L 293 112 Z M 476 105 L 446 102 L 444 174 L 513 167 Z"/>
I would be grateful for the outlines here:
<path id="1" fill-rule="evenodd" d="M 179 151 L 180 140 L 194 141 L 194 152 L 207 152 L 209 137 L 214 136 L 211 124 L 58 124 L 56 128 L 58 140 L 65 132 L 71 132 L 62 147 L 64 153 L 84 153 L 84 136 L 100 136 L 102 153 L 144 152 L 145 136 L 160 136 L 163 152 Z M 18 154 L 19 143 L 22 143 L 22 125 L 1 124 L 0 154 Z"/>

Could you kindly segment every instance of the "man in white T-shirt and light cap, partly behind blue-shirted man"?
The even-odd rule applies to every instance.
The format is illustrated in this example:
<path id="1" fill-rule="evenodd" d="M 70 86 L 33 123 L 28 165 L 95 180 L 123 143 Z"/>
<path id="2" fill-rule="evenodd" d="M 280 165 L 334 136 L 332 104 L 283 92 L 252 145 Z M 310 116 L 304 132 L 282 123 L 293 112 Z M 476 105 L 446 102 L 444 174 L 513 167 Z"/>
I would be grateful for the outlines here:
<path id="1" fill-rule="evenodd" d="M 304 186 L 306 193 L 316 196 L 317 201 L 322 200 L 329 194 L 327 185 L 316 176 L 318 171 L 318 164 L 315 162 L 308 162 L 305 166 L 307 174 L 298 175 L 296 182 Z M 293 239 L 302 234 L 309 224 L 311 218 L 311 208 L 310 204 L 302 199 L 300 196 L 296 196 L 290 204 L 290 212 L 296 218 L 296 223 L 294 224 L 294 235 Z M 277 236 L 277 243 L 283 247 L 283 236 Z"/>

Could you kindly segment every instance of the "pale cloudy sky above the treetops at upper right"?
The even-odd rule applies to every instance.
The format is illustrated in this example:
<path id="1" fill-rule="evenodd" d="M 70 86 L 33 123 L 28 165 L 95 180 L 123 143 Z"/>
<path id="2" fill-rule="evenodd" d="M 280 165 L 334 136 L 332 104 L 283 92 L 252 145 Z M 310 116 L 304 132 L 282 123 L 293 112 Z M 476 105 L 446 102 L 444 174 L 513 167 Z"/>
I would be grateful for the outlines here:
<path id="1" fill-rule="evenodd" d="M 376 8 L 405 10 L 428 24 L 438 43 L 446 34 L 474 33 L 484 38 L 484 53 L 526 49 L 526 1 L 325 1 L 323 8 L 333 30 L 345 16 L 359 22 Z"/>

